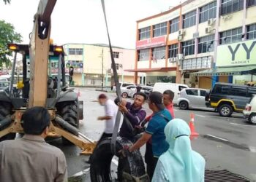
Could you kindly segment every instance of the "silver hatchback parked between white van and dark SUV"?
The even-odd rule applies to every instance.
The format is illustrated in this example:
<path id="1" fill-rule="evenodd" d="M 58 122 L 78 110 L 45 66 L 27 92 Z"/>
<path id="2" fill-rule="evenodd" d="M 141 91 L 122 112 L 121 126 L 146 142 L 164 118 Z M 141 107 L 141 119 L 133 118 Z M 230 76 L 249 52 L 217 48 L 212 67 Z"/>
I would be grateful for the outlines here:
<path id="1" fill-rule="evenodd" d="M 208 90 L 189 88 L 181 90 L 178 98 L 178 106 L 181 109 L 206 108 L 206 92 Z"/>

